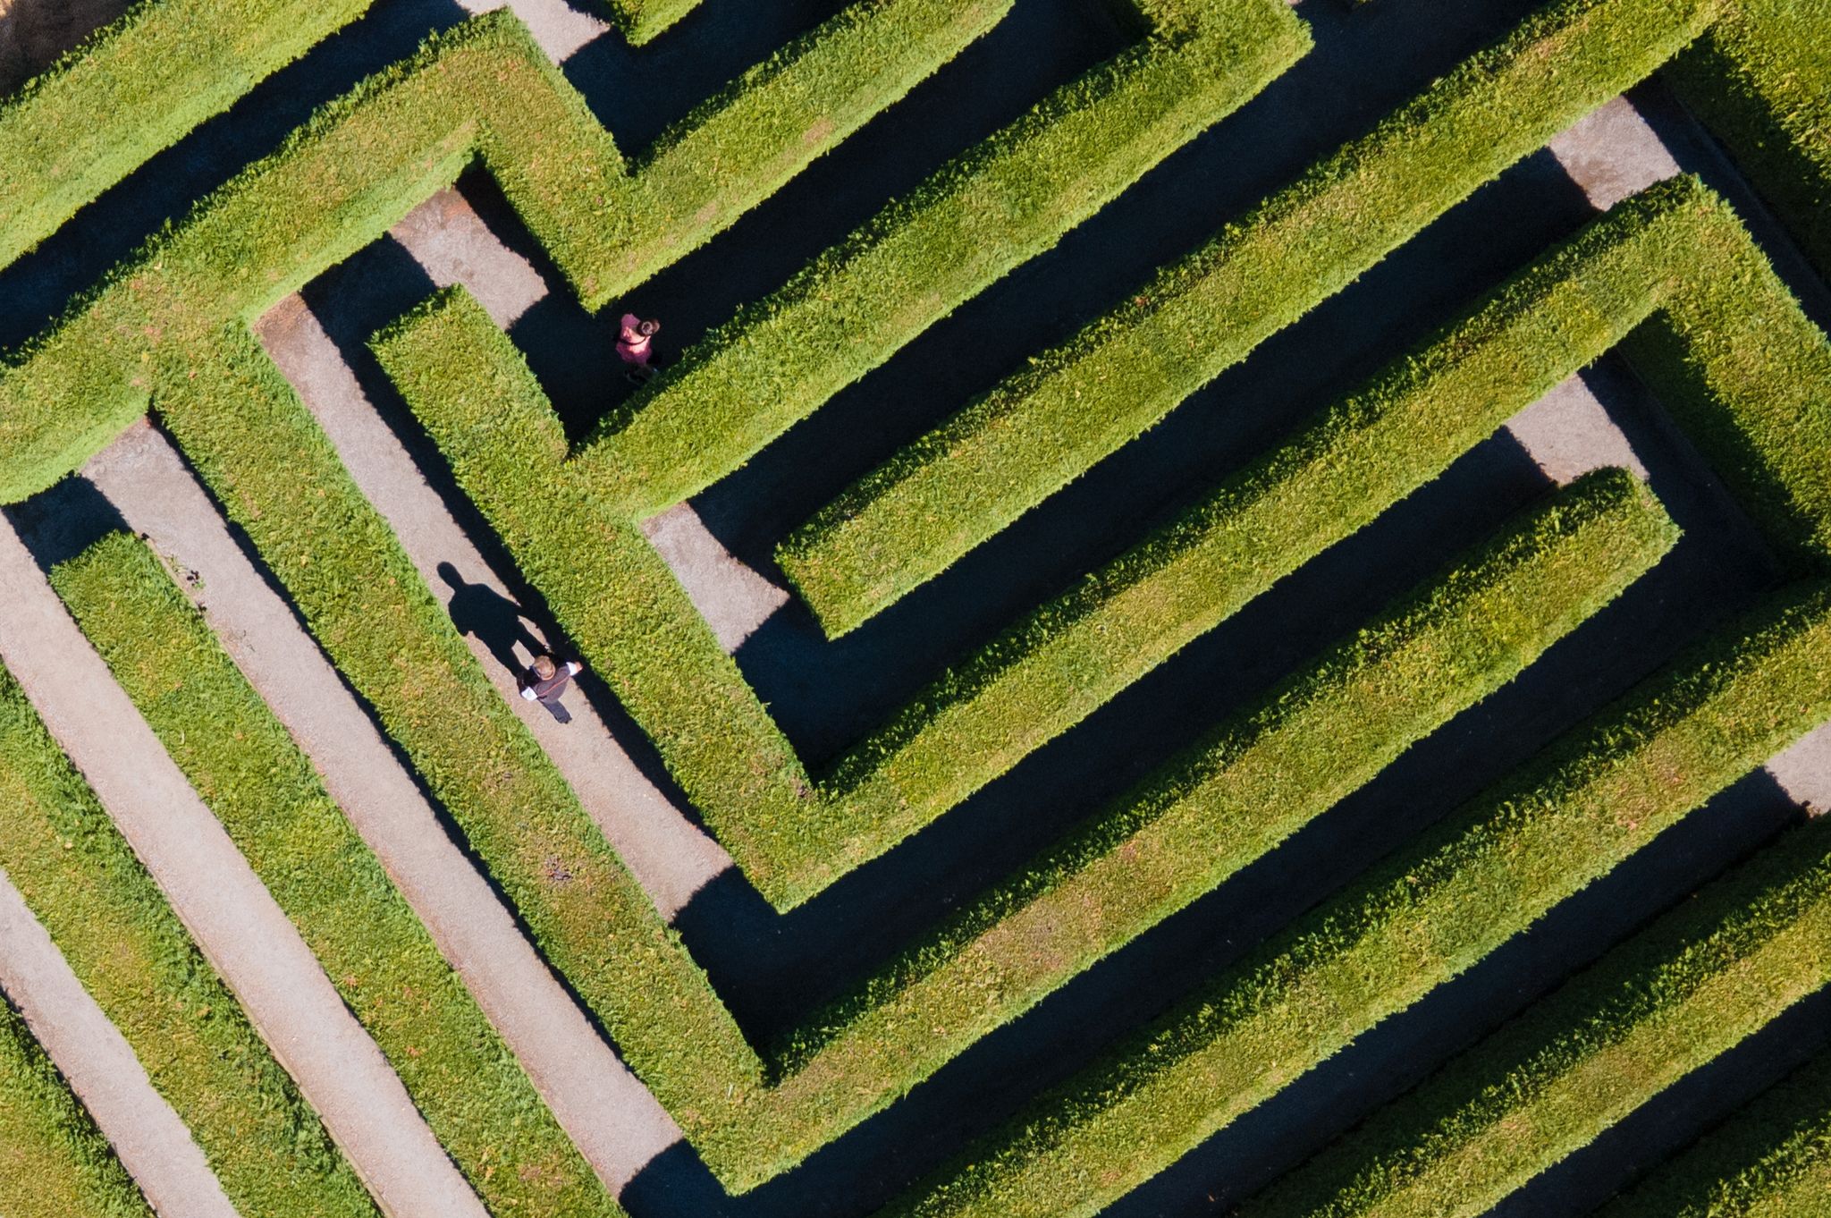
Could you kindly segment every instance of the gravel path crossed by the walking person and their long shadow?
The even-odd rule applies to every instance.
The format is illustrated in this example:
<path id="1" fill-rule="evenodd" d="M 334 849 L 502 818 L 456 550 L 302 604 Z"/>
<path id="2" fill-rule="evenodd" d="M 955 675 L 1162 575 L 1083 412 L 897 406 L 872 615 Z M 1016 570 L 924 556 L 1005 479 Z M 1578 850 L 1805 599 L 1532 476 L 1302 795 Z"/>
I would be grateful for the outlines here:
<path id="1" fill-rule="evenodd" d="M 258 333 L 427 586 L 447 601 L 487 597 L 513 615 L 505 582 L 427 485 L 309 306 L 287 299 L 262 319 Z M 538 632 L 529 634 L 546 647 Z M 573 722 L 560 723 L 516 694 L 516 674 L 491 650 L 491 639 L 472 632 L 465 641 L 665 918 L 672 919 L 694 892 L 732 865 L 637 769 L 584 698 L 573 692 L 566 700 Z M 525 645 L 516 656 L 527 659 Z"/>

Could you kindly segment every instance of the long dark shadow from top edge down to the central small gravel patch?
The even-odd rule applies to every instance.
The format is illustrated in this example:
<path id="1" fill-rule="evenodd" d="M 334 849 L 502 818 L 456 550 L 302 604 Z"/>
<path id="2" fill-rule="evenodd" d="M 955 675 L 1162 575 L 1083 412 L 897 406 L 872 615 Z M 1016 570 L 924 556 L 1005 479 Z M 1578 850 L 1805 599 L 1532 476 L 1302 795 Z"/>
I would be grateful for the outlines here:
<path id="1" fill-rule="evenodd" d="M 1525 0 L 1432 13 L 1404 5 L 1357 13 L 1304 5 L 1316 40 L 1307 57 L 1055 249 L 956 310 L 890 364 L 703 495 L 701 517 L 740 557 L 764 559 L 785 527 L 872 463 L 1022 366 L 1027 355 L 1104 313 L 1157 266 L 1194 249 L 1221 222 L 1362 134 L 1531 7 Z M 807 189 L 817 185 L 809 181 Z M 765 220 L 758 212 L 756 222 Z M 740 238 L 738 231 L 732 238 Z M 683 260 L 672 275 L 703 282 L 716 277 L 716 267 L 714 247 Z M 798 262 L 784 267 L 776 282 L 793 269 Z M 818 454 L 818 462 L 804 460 L 807 454 Z"/>

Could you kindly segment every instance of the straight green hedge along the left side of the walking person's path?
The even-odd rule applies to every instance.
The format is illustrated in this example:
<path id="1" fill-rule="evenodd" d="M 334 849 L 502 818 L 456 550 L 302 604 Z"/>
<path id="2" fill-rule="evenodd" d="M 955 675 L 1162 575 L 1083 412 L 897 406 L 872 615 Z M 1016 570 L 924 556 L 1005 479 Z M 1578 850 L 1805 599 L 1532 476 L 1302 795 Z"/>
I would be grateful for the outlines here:
<path id="1" fill-rule="evenodd" d="M 714 1170 L 742 1158 L 745 1139 L 720 1145 L 709 1130 L 740 1123 L 762 1060 L 707 976 L 253 335 L 233 326 L 189 355 L 211 374 L 161 397 L 161 418 L 203 482 L 624 1060 Z"/>

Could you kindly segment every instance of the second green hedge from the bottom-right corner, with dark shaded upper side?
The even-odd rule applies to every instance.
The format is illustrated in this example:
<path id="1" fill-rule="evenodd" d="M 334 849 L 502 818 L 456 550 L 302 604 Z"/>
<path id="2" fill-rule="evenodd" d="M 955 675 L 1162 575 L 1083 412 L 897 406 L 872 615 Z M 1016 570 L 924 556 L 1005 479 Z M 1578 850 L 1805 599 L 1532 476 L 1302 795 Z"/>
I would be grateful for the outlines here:
<path id="1" fill-rule="evenodd" d="M 1831 841 L 1815 826 L 1609 952 L 1238 1214 L 1478 1218 L 1827 982 Z"/>

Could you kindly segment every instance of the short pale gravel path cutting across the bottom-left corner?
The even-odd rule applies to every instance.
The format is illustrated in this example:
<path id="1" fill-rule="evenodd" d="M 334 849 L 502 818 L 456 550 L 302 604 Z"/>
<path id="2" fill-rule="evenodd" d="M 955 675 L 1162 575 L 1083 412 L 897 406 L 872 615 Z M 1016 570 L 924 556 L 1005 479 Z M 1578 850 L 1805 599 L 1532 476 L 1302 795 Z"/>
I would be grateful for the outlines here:
<path id="1" fill-rule="evenodd" d="M 0 991 L 161 1214 L 236 1218 L 190 1130 L 0 872 Z"/>

